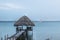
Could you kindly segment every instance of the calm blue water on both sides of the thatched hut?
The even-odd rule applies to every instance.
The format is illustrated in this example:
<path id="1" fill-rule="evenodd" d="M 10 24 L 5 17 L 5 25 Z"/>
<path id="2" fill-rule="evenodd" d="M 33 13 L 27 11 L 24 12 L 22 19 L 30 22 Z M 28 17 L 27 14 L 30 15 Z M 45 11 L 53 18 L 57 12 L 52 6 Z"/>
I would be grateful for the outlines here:
<path id="1" fill-rule="evenodd" d="M 0 37 L 5 35 L 13 35 L 16 30 L 14 27 L 15 22 L 0 22 Z M 33 27 L 33 39 L 34 40 L 45 40 L 50 38 L 50 40 L 60 40 L 60 22 L 59 21 L 44 21 L 44 22 L 34 22 Z"/>

